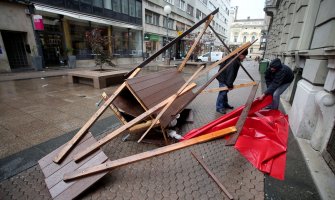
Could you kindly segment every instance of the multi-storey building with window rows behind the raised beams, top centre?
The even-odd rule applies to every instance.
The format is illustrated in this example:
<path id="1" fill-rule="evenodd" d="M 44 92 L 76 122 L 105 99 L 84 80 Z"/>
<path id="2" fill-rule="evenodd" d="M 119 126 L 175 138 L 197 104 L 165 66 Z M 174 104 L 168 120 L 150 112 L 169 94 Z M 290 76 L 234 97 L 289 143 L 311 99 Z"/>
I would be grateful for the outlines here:
<path id="1" fill-rule="evenodd" d="M 171 13 L 164 13 L 164 6 L 171 7 Z M 168 41 L 173 40 L 189 29 L 196 22 L 219 8 L 219 13 L 212 21 L 212 27 L 223 40 L 227 39 L 228 33 L 228 8 L 230 0 L 146 0 L 143 2 L 145 13 L 144 28 L 144 51 L 152 55 L 162 48 Z M 167 22 L 167 23 L 166 23 Z M 201 27 L 177 42 L 170 50 L 171 59 L 182 59 L 193 44 L 193 40 Z M 222 49 L 221 42 L 216 39 L 214 33 L 208 28 L 201 40 L 201 54 L 208 51 Z M 166 52 L 158 59 L 164 59 Z"/>

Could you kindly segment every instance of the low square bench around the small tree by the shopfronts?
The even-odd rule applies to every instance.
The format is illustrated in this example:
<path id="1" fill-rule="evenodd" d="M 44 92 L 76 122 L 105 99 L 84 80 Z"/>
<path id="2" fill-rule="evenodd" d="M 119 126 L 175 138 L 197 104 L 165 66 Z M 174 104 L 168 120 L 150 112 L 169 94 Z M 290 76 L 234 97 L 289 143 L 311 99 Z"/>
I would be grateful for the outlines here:
<path id="1" fill-rule="evenodd" d="M 94 88 L 101 89 L 113 84 L 122 83 L 126 73 L 128 71 L 125 70 L 103 72 L 94 70 L 73 71 L 68 73 L 68 80 L 70 83 L 92 85 Z"/>

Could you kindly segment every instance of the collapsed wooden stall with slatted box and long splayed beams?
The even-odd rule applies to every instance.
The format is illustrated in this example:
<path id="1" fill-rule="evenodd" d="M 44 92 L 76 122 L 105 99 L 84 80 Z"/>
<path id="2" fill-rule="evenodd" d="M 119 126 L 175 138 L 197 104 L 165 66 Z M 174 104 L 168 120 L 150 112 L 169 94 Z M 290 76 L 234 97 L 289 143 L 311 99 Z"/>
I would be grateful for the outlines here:
<path id="1" fill-rule="evenodd" d="M 226 134 L 236 132 L 237 129 L 235 127 L 230 127 L 208 134 L 206 136 L 200 136 L 188 141 L 168 145 L 162 148 L 158 148 L 156 150 L 152 150 L 150 152 L 143 152 L 115 161 L 106 161 L 107 158 L 103 156 L 103 159 L 99 160 L 100 163 L 98 164 L 100 165 L 97 166 L 94 166 L 96 165 L 96 163 L 92 163 L 93 166 L 81 164 L 83 162 L 85 163 L 87 159 L 95 158 L 97 155 L 96 152 L 100 150 L 100 147 L 102 147 L 110 140 L 126 130 L 146 129 L 141 139 L 139 140 L 140 142 L 151 128 L 155 126 L 160 126 L 166 140 L 166 134 L 164 129 L 168 126 L 171 120 L 174 119 L 175 115 L 180 113 L 181 110 L 183 110 L 185 106 L 187 106 L 194 98 L 196 98 L 196 96 L 199 95 L 223 70 L 225 70 L 227 66 L 230 65 L 230 63 L 237 59 L 245 49 L 251 46 L 251 43 L 248 42 L 241 47 L 235 49 L 221 60 L 211 64 L 206 69 L 204 69 L 204 66 L 199 67 L 199 69 L 197 69 L 194 74 L 185 81 L 182 77 L 181 72 L 185 67 L 187 60 L 190 58 L 193 50 L 195 49 L 195 46 L 200 41 L 202 35 L 210 25 L 212 19 L 214 18 L 214 15 L 217 12 L 218 9 L 214 10 L 207 17 L 200 20 L 190 29 L 185 31 L 182 35 L 165 45 L 154 55 L 152 55 L 143 63 L 138 65 L 136 68 L 131 70 L 126 75 L 127 79 L 125 80 L 125 82 L 122 83 L 121 86 L 119 86 L 119 88 L 117 88 L 111 96 L 108 97 L 107 94 L 103 94 L 102 97 L 105 100 L 104 104 L 100 106 L 96 113 L 92 115 L 87 123 L 84 124 L 84 126 L 69 142 L 64 144 L 59 149 L 55 150 L 52 154 L 47 155 L 44 158 L 43 162 L 48 162 L 50 166 L 52 165 L 53 168 L 57 169 L 56 171 L 60 171 L 58 175 L 61 175 L 61 173 L 66 174 L 62 181 L 72 181 L 72 179 L 76 179 L 78 177 L 91 176 L 91 174 L 97 173 L 99 174 L 99 176 L 95 177 L 101 178 L 102 176 L 100 176 L 100 174 L 102 172 L 105 173 L 106 171 L 109 171 L 115 167 L 151 158 L 153 156 L 158 156 L 177 149 L 185 148 L 193 144 L 205 142 Z M 201 24 L 204 24 L 204 28 L 198 34 L 198 37 L 195 39 L 195 42 L 193 43 L 192 47 L 190 48 L 189 52 L 187 53 L 185 59 L 183 60 L 178 69 L 168 69 L 145 76 L 137 76 L 141 71 L 142 67 L 148 64 L 150 61 L 154 60 L 154 58 L 156 58 L 166 49 L 171 47 L 181 38 L 189 34 L 191 31 L 199 27 Z M 201 86 L 196 92 L 192 91 L 192 89 L 194 89 L 194 87 L 196 86 L 196 84 L 193 83 L 195 79 L 203 74 L 206 74 L 214 67 L 217 67 L 219 64 L 227 61 L 228 59 L 230 59 L 229 62 L 226 63 L 226 65 L 221 68 L 214 76 L 212 76 L 203 86 Z M 243 86 L 246 85 L 242 85 L 241 87 Z M 92 125 L 97 121 L 97 119 L 103 114 L 103 112 L 107 108 L 110 108 L 115 113 L 115 115 L 117 116 L 117 118 L 119 118 L 123 125 L 118 129 L 107 133 L 106 136 L 101 138 L 100 140 L 92 140 L 90 144 L 87 144 L 83 147 L 83 145 L 81 145 L 82 142 L 80 141 L 83 141 L 85 140 L 85 138 L 87 138 L 88 130 L 92 127 Z M 78 150 L 78 146 L 81 146 L 80 150 Z M 78 170 L 80 170 L 78 172 L 76 171 L 76 169 L 69 170 L 64 168 L 64 163 L 69 161 L 71 163 L 77 163 L 80 166 L 85 166 L 88 168 L 88 170 L 84 169 L 85 167 L 80 167 L 78 168 Z M 41 168 L 43 171 L 44 168 L 42 166 Z M 95 178 L 94 180 L 96 181 L 97 178 Z M 80 182 L 81 179 L 75 181 Z M 75 185 L 80 184 L 81 183 L 76 183 Z M 80 193 L 79 190 L 78 188 L 76 188 L 76 193 Z"/>

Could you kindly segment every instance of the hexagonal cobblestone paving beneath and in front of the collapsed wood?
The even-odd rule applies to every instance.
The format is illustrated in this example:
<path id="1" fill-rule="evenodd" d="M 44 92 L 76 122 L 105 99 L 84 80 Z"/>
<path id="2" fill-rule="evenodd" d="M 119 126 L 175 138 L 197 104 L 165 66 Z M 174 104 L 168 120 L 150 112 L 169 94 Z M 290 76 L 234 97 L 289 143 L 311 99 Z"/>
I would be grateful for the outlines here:
<path id="1" fill-rule="evenodd" d="M 259 80 L 258 65 L 249 61 L 244 65 Z M 147 70 L 149 72 L 150 70 Z M 186 69 L 186 76 L 193 70 Z M 214 73 L 213 70 L 211 72 Z M 199 84 L 208 79 L 204 77 Z M 240 70 L 236 84 L 249 81 Z M 217 87 L 213 81 L 210 87 Z M 79 88 L 78 88 L 79 89 Z M 233 106 L 242 105 L 250 88 L 230 92 Z M 78 92 L 78 90 L 73 90 Z M 259 94 L 259 93 L 258 93 Z M 216 119 L 216 94 L 201 94 L 188 107 L 194 111 L 194 123 L 185 125 L 182 134 Z M 102 130 L 103 131 L 103 130 Z M 99 137 L 103 137 L 104 134 Z M 122 142 L 120 135 L 103 147 L 111 159 L 122 158 L 157 148 L 140 143 L 140 135 L 132 135 Z M 190 152 L 202 157 L 213 173 L 235 199 L 264 199 L 264 175 L 255 169 L 233 147 L 226 147 L 223 139 L 194 145 L 169 154 L 140 161 L 112 170 L 83 193 L 80 199 L 228 199 Z M 0 182 L 0 199 L 49 199 L 49 191 L 38 165 Z"/>

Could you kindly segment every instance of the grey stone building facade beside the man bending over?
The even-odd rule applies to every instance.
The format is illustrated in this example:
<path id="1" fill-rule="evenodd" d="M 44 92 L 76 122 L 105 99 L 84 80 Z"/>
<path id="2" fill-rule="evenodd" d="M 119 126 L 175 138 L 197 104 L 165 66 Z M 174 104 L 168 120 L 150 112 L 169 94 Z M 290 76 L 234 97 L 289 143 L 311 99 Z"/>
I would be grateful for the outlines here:
<path id="1" fill-rule="evenodd" d="M 284 98 L 296 137 L 310 141 L 335 171 L 334 0 L 267 0 L 271 17 L 265 56 L 295 72 Z"/>

